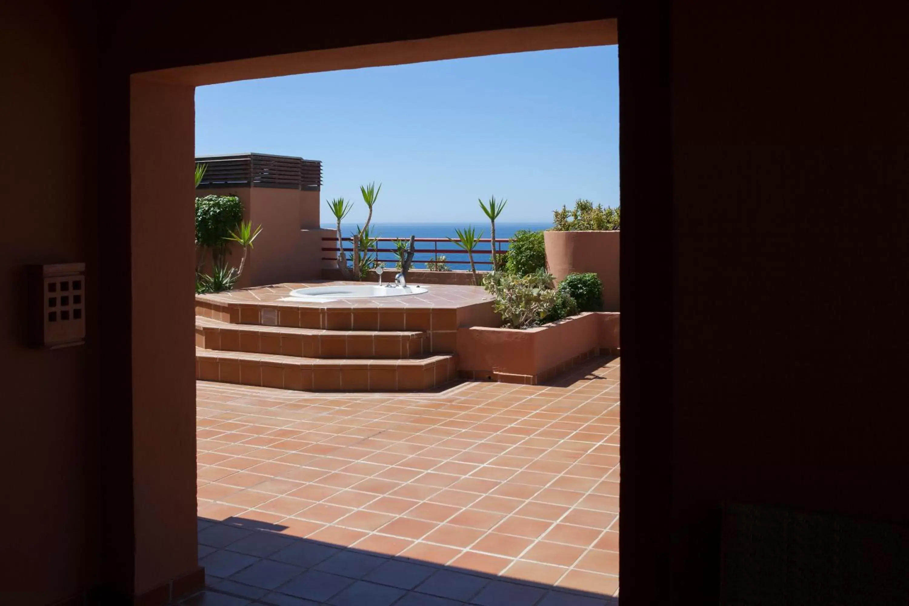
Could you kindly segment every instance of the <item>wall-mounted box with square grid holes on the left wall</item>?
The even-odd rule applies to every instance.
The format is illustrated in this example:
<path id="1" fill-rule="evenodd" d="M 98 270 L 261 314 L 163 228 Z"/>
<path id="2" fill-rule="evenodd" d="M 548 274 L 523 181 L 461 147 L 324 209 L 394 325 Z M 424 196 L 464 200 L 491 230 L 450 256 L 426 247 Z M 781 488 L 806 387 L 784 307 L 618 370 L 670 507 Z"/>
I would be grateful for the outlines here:
<path id="1" fill-rule="evenodd" d="M 85 263 L 29 265 L 32 343 L 67 347 L 85 343 Z"/>

